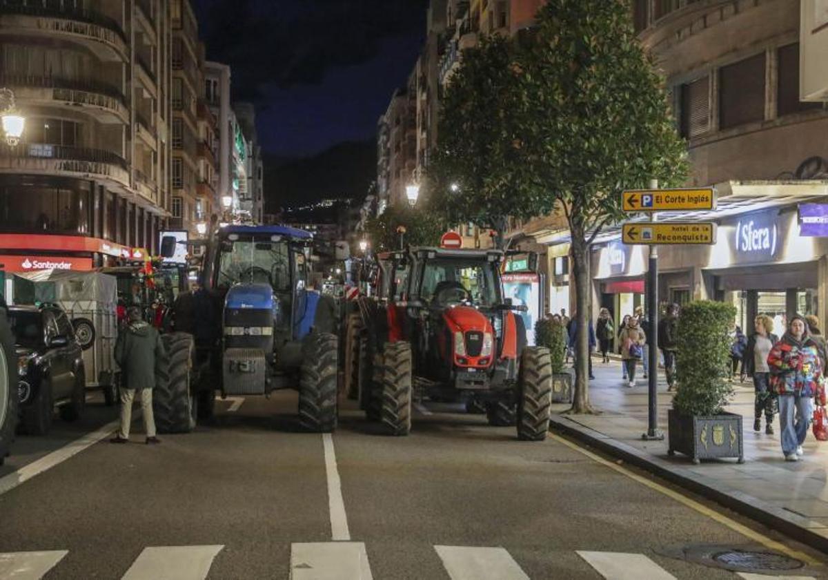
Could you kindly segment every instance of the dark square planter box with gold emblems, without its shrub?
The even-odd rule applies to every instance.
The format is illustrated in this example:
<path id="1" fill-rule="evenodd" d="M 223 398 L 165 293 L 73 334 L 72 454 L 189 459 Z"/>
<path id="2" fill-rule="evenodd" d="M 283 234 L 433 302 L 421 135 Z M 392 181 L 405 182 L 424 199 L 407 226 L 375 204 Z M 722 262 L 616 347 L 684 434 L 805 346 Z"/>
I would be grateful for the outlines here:
<path id="1" fill-rule="evenodd" d="M 735 457 L 744 463 L 742 416 L 721 413 L 705 417 L 667 411 L 669 447 L 667 453 L 681 452 L 698 464 L 702 459 Z"/>

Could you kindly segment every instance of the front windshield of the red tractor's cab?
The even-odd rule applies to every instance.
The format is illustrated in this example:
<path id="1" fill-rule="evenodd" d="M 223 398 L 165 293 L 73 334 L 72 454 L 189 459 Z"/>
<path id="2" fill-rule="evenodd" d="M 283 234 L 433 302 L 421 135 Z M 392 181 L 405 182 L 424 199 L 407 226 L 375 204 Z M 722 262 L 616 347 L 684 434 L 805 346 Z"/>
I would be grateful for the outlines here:
<path id="1" fill-rule="evenodd" d="M 477 306 L 494 306 L 500 302 L 497 268 L 497 263 L 481 260 L 430 259 L 420 297 L 439 307 L 468 298 Z"/>

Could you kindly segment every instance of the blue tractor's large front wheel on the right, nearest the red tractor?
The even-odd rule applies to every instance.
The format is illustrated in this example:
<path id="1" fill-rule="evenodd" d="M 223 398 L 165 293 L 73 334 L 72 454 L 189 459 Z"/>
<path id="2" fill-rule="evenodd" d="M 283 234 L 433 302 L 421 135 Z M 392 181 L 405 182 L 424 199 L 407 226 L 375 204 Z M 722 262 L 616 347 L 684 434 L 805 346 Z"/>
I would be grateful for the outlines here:
<path id="1" fill-rule="evenodd" d="M 314 433 L 331 433 L 337 421 L 337 345 L 332 334 L 308 338 L 299 381 L 299 422 Z"/>

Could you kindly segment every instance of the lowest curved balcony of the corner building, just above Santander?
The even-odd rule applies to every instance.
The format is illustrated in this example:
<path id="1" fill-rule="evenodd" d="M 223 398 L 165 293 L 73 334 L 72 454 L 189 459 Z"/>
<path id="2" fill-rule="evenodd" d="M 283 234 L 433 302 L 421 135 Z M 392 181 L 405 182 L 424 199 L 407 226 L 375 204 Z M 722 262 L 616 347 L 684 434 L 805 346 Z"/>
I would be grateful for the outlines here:
<path id="1" fill-rule="evenodd" d="M 36 173 L 70 177 L 90 176 L 129 186 L 129 166 L 123 157 L 103 149 L 21 143 L 0 147 L 0 173 Z"/>

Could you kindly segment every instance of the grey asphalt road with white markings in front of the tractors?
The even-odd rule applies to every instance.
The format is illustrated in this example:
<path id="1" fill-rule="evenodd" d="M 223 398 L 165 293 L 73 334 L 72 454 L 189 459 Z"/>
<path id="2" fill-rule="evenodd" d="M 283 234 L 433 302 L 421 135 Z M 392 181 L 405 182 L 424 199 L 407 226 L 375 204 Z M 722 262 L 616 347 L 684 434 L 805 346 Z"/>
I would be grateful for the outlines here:
<path id="1" fill-rule="evenodd" d="M 402 438 L 350 402 L 332 437 L 300 433 L 291 392 L 217 408 L 214 423 L 157 447 L 140 423 L 130 445 L 87 436 L 30 479 L 73 437 L 103 437 L 113 409 L 92 404 L 80 425 L 22 437 L 0 468 L 0 580 L 739 578 L 681 551 L 757 545 L 559 439 L 518 442 L 445 406 L 426 404 Z"/>

